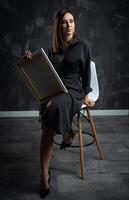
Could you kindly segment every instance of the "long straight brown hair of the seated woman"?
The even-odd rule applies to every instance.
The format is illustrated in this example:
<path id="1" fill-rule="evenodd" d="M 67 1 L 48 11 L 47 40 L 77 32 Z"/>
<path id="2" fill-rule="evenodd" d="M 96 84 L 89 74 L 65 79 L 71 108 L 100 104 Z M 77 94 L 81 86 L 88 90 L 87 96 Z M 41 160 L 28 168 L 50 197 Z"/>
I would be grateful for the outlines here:
<path id="1" fill-rule="evenodd" d="M 53 26 L 53 34 L 52 34 L 52 51 L 53 53 L 59 53 L 61 48 L 65 48 L 65 43 L 62 37 L 61 33 L 61 22 L 62 18 L 66 13 L 70 13 L 72 16 L 72 11 L 63 9 L 59 12 L 54 17 L 54 26 Z M 75 17 L 73 16 L 74 21 Z M 75 35 L 76 33 L 74 33 Z"/>

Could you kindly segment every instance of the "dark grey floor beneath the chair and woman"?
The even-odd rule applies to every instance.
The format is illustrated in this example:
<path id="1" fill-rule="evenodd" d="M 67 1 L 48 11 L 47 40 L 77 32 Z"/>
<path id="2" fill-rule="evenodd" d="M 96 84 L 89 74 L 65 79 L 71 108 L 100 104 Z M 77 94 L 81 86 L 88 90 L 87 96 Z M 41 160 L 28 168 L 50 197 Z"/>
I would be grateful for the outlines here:
<path id="1" fill-rule="evenodd" d="M 86 147 L 85 180 L 80 179 L 79 149 L 54 145 L 48 200 L 129 199 L 129 117 L 94 118 L 104 160 L 95 143 Z M 87 131 L 89 127 L 84 123 Z M 0 199 L 38 200 L 41 127 L 38 118 L 0 118 Z M 61 140 L 58 136 L 55 140 Z M 90 140 L 84 135 L 84 141 Z M 74 144 L 78 142 L 75 136 Z"/>

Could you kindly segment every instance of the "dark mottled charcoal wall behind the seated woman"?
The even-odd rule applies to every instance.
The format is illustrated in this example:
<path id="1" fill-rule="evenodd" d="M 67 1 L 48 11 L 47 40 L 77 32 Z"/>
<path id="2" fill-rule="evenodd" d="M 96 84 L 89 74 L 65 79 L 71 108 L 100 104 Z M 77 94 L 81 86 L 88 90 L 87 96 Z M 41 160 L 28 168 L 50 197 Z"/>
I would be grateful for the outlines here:
<path id="1" fill-rule="evenodd" d="M 53 16 L 72 8 L 77 28 L 91 45 L 100 97 L 96 109 L 129 108 L 128 0 L 1 0 L 0 1 L 0 110 L 34 110 L 38 104 L 14 63 L 31 50 L 51 43 Z"/>

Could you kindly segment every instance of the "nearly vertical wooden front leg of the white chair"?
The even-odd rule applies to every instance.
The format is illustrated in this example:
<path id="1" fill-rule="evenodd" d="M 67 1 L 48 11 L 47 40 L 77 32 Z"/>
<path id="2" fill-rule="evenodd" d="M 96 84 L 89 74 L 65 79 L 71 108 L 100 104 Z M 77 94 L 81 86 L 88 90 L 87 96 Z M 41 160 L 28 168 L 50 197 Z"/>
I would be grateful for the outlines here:
<path id="1" fill-rule="evenodd" d="M 83 137 L 82 137 L 82 122 L 80 113 L 77 114 L 77 123 L 78 123 L 78 139 L 80 145 L 80 169 L 81 169 L 81 178 L 84 179 L 84 152 L 83 152 Z"/>

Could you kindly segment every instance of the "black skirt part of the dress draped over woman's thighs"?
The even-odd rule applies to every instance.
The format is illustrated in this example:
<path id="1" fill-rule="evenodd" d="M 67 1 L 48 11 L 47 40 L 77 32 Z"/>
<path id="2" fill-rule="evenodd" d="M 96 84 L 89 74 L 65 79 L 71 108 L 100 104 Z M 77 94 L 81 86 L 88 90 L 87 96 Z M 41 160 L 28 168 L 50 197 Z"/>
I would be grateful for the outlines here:
<path id="1" fill-rule="evenodd" d="M 80 111 L 82 98 L 74 98 L 71 93 L 62 93 L 53 97 L 52 104 L 42 104 L 40 116 L 42 129 L 49 128 L 56 133 L 65 135 L 71 128 L 73 117 Z"/>

